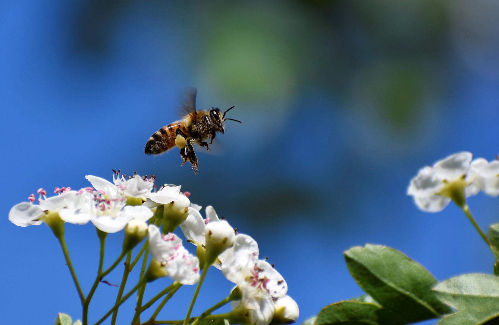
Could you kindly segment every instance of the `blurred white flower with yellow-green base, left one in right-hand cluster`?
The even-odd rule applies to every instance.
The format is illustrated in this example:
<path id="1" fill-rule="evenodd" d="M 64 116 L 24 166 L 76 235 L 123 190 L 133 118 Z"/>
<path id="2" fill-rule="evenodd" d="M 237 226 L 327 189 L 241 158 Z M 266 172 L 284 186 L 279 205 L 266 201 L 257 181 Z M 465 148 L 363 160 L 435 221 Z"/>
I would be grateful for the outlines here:
<path id="1" fill-rule="evenodd" d="M 422 211 L 442 211 L 451 201 L 465 203 L 465 196 L 476 195 L 478 190 L 472 184 L 475 175 L 468 174 L 472 154 L 461 152 L 425 166 L 411 180 L 407 195 L 414 197 L 414 203 Z"/>

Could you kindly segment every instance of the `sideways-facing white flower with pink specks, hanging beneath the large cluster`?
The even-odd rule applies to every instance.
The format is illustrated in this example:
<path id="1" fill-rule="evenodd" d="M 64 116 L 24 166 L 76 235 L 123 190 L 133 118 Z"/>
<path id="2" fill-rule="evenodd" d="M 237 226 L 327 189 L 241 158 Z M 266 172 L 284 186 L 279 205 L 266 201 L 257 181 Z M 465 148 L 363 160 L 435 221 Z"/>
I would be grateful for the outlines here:
<path id="1" fill-rule="evenodd" d="M 181 284 L 196 284 L 199 281 L 199 259 L 182 246 L 175 234 L 162 235 L 159 228 L 149 225 L 149 245 L 152 257 L 162 263 L 168 276 Z"/>

